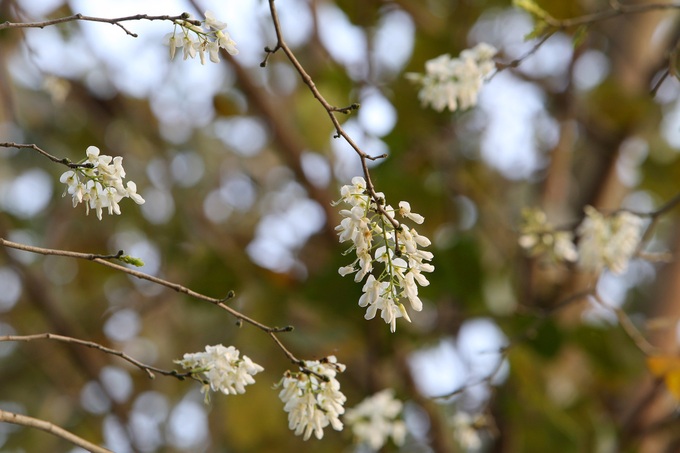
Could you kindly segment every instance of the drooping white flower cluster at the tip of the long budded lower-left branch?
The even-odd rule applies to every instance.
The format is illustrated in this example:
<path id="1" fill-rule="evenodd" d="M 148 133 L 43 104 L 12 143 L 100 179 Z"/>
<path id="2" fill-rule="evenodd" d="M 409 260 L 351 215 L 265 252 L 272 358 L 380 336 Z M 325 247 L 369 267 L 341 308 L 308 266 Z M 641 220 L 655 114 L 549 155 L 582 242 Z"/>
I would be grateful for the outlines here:
<path id="1" fill-rule="evenodd" d="M 338 363 L 335 356 L 330 356 L 306 360 L 305 367 L 307 370 L 296 373 L 286 371 L 279 383 L 279 398 L 284 403 L 283 410 L 288 412 L 288 427 L 295 430 L 295 435 L 302 434 L 307 440 L 314 433 L 317 439 L 321 439 L 323 429 L 329 424 L 336 431 L 343 427 L 340 415 L 345 412 L 343 404 L 347 398 L 340 391 L 340 383 L 335 376 L 345 370 L 345 365 Z"/>

